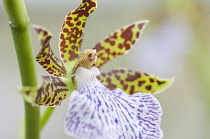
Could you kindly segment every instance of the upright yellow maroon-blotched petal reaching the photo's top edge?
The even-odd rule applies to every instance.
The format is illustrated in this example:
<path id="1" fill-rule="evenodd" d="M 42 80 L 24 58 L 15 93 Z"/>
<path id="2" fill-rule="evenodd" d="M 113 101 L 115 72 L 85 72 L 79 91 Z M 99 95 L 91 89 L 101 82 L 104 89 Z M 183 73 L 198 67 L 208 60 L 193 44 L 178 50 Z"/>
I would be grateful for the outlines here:
<path id="1" fill-rule="evenodd" d="M 80 53 L 83 32 L 88 16 L 96 9 L 97 0 L 83 0 L 81 5 L 65 18 L 60 34 L 60 55 L 66 68 L 74 66 Z"/>

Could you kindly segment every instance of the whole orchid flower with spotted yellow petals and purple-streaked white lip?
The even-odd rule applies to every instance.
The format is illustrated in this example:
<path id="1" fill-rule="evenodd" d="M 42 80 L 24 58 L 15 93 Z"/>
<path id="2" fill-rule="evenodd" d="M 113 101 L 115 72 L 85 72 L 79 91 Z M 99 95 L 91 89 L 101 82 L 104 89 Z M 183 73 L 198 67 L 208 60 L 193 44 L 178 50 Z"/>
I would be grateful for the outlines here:
<path id="1" fill-rule="evenodd" d="M 51 33 L 34 26 L 42 46 L 36 60 L 51 76 L 43 77 L 41 87 L 19 91 L 38 106 L 59 106 L 71 95 L 65 130 L 76 138 L 162 138 L 162 109 L 151 94 L 163 91 L 172 80 L 125 68 L 104 73 L 98 69 L 129 52 L 148 21 L 127 25 L 80 53 L 85 23 L 96 2 L 83 0 L 66 16 L 60 33 L 61 60 L 50 48 Z"/>

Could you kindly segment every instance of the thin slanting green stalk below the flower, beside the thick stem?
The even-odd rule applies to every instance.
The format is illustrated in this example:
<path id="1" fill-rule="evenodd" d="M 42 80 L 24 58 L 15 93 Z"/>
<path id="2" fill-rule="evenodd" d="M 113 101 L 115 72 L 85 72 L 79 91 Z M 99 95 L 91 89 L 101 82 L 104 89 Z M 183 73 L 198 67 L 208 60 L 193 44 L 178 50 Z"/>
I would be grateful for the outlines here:
<path id="1" fill-rule="evenodd" d="M 46 108 L 44 114 L 41 117 L 40 130 L 42 130 L 44 128 L 45 124 L 49 120 L 49 118 L 52 115 L 52 113 L 54 112 L 54 110 L 55 110 L 55 107 L 47 107 Z"/>

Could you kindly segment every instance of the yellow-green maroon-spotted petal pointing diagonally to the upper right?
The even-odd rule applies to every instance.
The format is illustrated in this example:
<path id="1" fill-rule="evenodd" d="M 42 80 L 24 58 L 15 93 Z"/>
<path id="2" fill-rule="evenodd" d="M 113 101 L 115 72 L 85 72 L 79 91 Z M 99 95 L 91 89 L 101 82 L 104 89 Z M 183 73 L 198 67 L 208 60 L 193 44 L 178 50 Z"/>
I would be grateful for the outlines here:
<path id="1" fill-rule="evenodd" d="M 96 43 L 92 49 L 97 51 L 97 67 L 102 66 L 109 60 L 126 54 L 138 40 L 146 27 L 148 20 L 138 21 L 125 26 L 107 36 L 104 40 Z"/>

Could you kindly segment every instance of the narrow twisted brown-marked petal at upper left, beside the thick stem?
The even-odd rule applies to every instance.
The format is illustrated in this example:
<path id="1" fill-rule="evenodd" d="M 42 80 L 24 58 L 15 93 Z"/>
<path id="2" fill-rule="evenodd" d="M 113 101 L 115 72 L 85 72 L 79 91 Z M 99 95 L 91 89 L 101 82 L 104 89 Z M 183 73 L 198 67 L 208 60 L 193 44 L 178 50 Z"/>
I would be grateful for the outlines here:
<path id="1" fill-rule="evenodd" d="M 64 77 L 66 69 L 50 48 L 52 34 L 40 26 L 33 26 L 41 42 L 41 50 L 36 56 L 36 61 L 51 75 Z"/>

